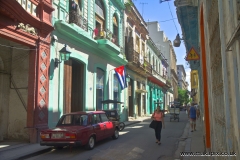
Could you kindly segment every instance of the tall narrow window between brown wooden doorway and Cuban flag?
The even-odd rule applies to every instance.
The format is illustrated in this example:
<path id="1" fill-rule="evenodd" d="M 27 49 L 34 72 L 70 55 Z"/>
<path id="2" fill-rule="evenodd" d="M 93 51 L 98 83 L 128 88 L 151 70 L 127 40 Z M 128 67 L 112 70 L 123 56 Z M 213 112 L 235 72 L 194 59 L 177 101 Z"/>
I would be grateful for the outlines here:
<path id="1" fill-rule="evenodd" d="M 97 68 L 96 79 L 96 109 L 102 110 L 102 101 L 104 98 L 104 71 L 101 68 Z"/>

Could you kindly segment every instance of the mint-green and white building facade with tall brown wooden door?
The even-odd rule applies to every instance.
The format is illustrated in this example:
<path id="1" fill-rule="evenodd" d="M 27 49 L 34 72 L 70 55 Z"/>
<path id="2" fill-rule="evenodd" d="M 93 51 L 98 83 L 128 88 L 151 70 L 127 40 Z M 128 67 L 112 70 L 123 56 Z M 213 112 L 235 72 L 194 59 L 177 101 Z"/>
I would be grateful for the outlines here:
<path id="1" fill-rule="evenodd" d="M 55 26 L 51 46 L 49 126 L 74 111 L 118 109 L 127 118 L 126 90 L 121 90 L 114 68 L 127 63 L 123 52 L 122 1 L 53 1 Z M 56 66 L 60 50 L 68 46 L 70 59 Z M 103 104 L 106 99 L 123 106 Z"/>

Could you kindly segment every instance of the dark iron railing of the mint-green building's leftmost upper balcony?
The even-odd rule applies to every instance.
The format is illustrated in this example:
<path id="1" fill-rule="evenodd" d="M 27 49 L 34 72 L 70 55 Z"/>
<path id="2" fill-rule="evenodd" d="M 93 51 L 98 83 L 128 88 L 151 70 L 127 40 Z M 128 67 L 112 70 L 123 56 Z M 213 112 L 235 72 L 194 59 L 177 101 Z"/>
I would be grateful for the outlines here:
<path id="1" fill-rule="evenodd" d="M 69 23 L 74 23 L 83 30 L 88 31 L 88 21 L 76 11 L 69 12 Z"/>

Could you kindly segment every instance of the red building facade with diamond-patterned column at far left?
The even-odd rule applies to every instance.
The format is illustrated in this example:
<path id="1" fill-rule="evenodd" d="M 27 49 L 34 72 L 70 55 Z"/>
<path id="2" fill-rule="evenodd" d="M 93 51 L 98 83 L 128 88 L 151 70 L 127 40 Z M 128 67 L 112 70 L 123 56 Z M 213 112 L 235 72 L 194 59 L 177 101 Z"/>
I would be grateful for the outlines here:
<path id="1" fill-rule="evenodd" d="M 54 9 L 50 0 L 0 3 L 0 140 L 37 142 L 48 128 Z"/>

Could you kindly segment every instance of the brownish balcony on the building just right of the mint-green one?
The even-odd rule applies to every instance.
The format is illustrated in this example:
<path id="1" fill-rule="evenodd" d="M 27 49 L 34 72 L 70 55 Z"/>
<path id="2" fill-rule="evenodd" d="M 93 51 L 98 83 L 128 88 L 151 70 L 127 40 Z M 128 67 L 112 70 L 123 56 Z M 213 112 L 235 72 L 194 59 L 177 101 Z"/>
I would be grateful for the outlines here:
<path id="1" fill-rule="evenodd" d="M 152 75 L 151 65 L 140 56 L 140 54 L 133 49 L 129 49 L 126 53 L 126 57 L 128 60 L 128 67 L 141 74 L 142 76 L 148 77 Z"/>

